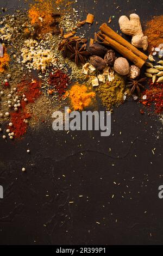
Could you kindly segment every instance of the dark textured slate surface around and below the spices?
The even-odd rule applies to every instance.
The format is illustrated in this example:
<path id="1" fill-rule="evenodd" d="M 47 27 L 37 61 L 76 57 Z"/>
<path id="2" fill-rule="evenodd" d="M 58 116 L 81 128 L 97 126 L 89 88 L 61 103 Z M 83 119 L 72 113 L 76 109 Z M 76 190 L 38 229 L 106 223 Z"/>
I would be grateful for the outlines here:
<path id="1" fill-rule="evenodd" d="M 18 5 L 24 7 L 24 1 L 0 1 L 10 13 Z M 94 13 L 99 24 L 114 15 L 115 30 L 121 15 L 136 11 L 145 24 L 163 7 L 162 0 L 85 0 L 74 6 L 82 10 L 80 16 Z M 91 36 L 98 26 L 83 29 Z M 0 244 L 162 244 L 162 124 L 155 115 L 141 115 L 141 108 L 129 99 L 114 109 L 110 137 L 84 131 L 67 135 L 42 125 L 21 141 L 1 138 Z"/>

